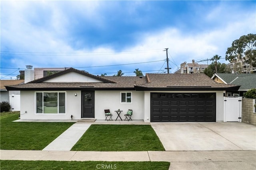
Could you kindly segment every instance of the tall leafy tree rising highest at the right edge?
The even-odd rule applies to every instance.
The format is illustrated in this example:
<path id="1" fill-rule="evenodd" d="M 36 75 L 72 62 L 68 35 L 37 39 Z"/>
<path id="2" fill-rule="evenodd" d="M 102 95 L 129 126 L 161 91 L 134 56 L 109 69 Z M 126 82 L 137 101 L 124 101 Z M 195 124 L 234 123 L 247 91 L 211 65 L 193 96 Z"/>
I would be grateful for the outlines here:
<path id="1" fill-rule="evenodd" d="M 226 51 L 226 60 L 230 63 L 242 61 L 244 64 L 256 66 L 256 34 L 243 35 L 232 42 Z"/>

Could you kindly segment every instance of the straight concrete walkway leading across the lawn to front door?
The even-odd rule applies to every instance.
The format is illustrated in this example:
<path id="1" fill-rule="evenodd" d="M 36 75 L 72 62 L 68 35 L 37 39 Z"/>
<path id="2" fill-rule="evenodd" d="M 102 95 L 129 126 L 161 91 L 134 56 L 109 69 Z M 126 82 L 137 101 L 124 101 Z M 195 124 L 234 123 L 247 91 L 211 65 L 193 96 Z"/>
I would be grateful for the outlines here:
<path id="1" fill-rule="evenodd" d="M 90 125 L 91 123 L 76 122 L 43 150 L 71 150 L 82 135 L 84 135 L 84 132 L 87 131 Z"/>

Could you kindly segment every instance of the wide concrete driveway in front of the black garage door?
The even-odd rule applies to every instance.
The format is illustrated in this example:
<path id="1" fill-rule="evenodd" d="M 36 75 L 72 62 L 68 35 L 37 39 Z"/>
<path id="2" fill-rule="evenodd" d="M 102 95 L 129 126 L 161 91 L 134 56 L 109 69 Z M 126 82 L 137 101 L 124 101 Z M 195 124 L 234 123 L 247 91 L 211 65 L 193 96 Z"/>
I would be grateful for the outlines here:
<path id="1" fill-rule="evenodd" d="M 239 122 L 151 123 L 167 151 L 256 150 L 256 127 Z"/>

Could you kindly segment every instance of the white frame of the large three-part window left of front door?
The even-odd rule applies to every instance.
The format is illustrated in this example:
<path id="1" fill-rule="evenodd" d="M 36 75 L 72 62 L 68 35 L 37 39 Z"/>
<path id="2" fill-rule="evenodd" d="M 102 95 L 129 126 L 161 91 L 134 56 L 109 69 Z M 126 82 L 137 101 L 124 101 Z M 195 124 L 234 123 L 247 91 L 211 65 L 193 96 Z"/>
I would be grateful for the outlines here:
<path id="1" fill-rule="evenodd" d="M 36 102 L 36 94 L 37 93 L 43 93 L 42 97 L 43 97 L 43 104 L 44 104 L 44 93 L 58 93 L 58 113 L 37 113 L 37 102 Z M 65 93 L 65 113 L 59 113 L 59 93 Z M 66 115 L 67 114 L 67 92 L 66 91 L 36 91 L 35 92 L 35 114 L 36 115 Z M 44 106 L 43 106 L 44 107 Z"/>

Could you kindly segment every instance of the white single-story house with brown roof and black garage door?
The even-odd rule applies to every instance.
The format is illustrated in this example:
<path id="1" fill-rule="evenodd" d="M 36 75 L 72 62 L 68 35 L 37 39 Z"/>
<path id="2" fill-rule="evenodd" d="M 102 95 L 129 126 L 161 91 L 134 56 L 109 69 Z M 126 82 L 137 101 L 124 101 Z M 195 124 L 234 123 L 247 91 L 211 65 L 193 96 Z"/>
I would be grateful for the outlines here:
<path id="1" fill-rule="evenodd" d="M 105 119 L 104 109 L 113 118 L 132 109 L 132 119 L 145 122 L 216 122 L 224 120 L 223 91 L 239 87 L 205 74 L 94 76 L 69 68 L 6 89 L 20 90 L 20 119 Z"/>

